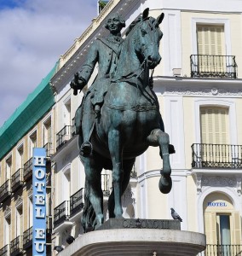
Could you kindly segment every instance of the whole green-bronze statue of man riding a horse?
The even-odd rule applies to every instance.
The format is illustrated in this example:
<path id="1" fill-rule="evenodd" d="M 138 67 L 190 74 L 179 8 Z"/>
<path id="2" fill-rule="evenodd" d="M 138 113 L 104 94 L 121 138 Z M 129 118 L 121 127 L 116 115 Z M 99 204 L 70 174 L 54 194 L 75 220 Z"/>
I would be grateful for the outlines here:
<path id="1" fill-rule="evenodd" d="M 148 13 L 149 9 L 145 9 L 131 23 L 124 39 L 120 34 L 124 19 L 118 14 L 107 17 L 110 34 L 95 40 L 84 67 L 71 82 L 76 94 L 88 83 L 98 62 L 98 75 L 85 93 L 75 118 L 86 175 L 84 232 L 95 230 L 104 221 L 102 169 L 112 170 L 109 218 L 122 218 L 121 196 L 130 182 L 135 157 L 149 146 L 158 146 L 163 160 L 160 191 L 167 194 L 172 187 L 169 154 L 175 150 L 164 132 L 158 98 L 149 78 L 149 71 L 161 61 L 158 49 L 163 33 L 159 24 L 164 14 L 154 19 Z"/>

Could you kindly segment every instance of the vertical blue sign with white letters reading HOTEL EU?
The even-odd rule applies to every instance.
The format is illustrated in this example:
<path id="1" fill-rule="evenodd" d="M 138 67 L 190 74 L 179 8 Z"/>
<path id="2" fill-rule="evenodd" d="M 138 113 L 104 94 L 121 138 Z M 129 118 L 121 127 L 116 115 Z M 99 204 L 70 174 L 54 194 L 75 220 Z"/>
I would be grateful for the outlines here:
<path id="1" fill-rule="evenodd" d="M 46 255 L 46 149 L 33 148 L 32 255 Z"/>

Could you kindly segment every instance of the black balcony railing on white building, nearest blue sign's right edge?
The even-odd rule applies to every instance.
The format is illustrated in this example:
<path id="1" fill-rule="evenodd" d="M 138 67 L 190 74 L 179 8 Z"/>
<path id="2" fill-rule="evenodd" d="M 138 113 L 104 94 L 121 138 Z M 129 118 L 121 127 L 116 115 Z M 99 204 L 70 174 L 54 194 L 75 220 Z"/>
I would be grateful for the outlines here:
<path id="1" fill-rule="evenodd" d="M 63 201 L 54 209 L 54 228 L 64 223 L 70 217 L 70 201 Z"/>

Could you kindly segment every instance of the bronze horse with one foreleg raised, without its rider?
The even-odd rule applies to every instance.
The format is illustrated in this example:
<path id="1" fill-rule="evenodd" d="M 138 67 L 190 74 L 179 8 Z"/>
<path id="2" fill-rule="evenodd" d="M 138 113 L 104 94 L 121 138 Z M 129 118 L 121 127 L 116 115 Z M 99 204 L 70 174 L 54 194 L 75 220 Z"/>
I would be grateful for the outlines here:
<path id="1" fill-rule="evenodd" d="M 149 146 L 159 146 L 163 168 L 159 181 L 162 193 L 169 193 L 170 178 L 169 136 L 162 131 L 158 99 L 149 83 L 149 69 L 158 65 L 162 32 L 157 19 L 148 17 L 146 9 L 141 19 L 133 23 L 120 53 L 118 68 L 105 96 L 100 118 L 90 137 L 93 152 L 80 155 L 84 163 L 85 202 L 82 224 L 84 232 L 94 230 L 103 221 L 101 170 L 112 170 L 112 193 L 108 200 L 109 218 L 122 218 L 121 196 L 130 182 L 135 157 Z M 83 143 L 79 135 L 79 145 Z"/>

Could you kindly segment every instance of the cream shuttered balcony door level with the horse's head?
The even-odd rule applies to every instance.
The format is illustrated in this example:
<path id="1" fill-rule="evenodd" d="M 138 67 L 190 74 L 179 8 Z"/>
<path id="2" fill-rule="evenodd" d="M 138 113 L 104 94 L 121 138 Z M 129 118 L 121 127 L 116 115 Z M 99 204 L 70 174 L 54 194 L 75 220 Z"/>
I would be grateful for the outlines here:
<path id="1" fill-rule="evenodd" d="M 197 26 L 199 73 L 217 76 L 226 70 L 226 55 L 223 26 Z"/>

